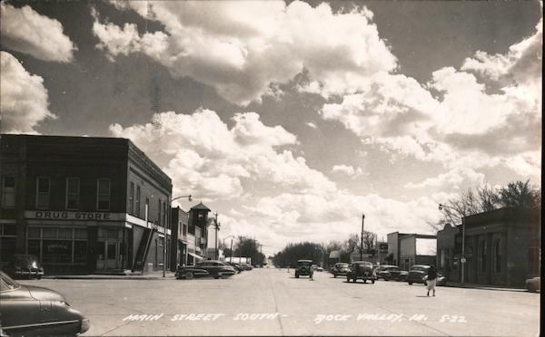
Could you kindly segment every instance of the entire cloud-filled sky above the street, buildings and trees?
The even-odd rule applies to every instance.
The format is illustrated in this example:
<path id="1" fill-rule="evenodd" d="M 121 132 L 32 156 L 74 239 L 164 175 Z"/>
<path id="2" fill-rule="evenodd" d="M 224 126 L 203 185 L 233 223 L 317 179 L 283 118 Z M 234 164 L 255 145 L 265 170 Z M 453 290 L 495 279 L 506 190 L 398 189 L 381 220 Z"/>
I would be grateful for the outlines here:
<path id="1" fill-rule="evenodd" d="M 130 139 L 220 240 L 434 234 L 540 186 L 540 2 L 1 4 L 2 133 Z"/>

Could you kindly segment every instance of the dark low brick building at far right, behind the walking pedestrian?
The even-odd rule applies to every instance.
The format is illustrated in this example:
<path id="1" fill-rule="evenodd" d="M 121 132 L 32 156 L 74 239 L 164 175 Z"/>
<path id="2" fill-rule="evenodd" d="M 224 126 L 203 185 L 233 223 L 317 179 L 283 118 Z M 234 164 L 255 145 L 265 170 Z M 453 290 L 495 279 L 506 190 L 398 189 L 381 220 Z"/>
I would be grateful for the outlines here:
<path id="1" fill-rule="evenodd" d="M 540 211 L 500 208 L 464 218 L 465 263 L 461 263 L 461 225 L 437 233 L 437 265 L 452 282 L 524 286 L 540 275 Z"/>

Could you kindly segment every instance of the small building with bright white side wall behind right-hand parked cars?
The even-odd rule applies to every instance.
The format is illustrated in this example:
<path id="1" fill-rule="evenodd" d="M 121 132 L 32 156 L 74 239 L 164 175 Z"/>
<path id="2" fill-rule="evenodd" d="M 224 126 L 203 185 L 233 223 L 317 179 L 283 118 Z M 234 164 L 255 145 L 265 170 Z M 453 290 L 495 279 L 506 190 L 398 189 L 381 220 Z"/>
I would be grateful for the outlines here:
<path id="1" fill-rule="evenodd" d="M 393 232 L 388 234 L 388 264 L 410 270 L 412 265 L 435 265 L 437 236 Z M 431 249 L 431 246 L 433 248 Z"/>

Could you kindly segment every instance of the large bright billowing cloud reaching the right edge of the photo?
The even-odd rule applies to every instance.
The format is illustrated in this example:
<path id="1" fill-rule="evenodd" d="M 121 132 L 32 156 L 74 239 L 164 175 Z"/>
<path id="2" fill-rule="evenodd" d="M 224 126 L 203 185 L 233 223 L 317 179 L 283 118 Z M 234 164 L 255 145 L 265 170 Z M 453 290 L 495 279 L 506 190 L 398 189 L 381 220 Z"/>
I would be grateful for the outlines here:
<path id="1" fill-rule="evenodd" d="M 504 165 L 521 175 L 540 170 L 528 153 L 540 150 L 541 22 L 505 55 L 476 53 L 461 70 L 445 67 L 431 82 L 378 72 L 359 90 L 326 103 L 320 114 L 396 156 L 446 168 Z M 490 93 L 489 87 L 500 84 Z M 313 88 L 318 90 L 318 86 Z M 526 153 L 525 159 L 520 153 Z M 530 166 L 533 168 L 530 168 Z"/>

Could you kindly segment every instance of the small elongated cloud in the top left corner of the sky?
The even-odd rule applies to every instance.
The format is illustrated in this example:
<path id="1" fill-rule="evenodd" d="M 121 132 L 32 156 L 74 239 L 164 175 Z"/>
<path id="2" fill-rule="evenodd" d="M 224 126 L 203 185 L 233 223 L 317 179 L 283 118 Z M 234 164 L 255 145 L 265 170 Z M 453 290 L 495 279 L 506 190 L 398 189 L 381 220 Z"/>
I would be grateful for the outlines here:
<path id="1" fill-rule="evenodd" d="M 57 20 L 38 14 L 29 5 L 15 8 L 2 2 L 0 11 L 0 33 L 6 48 L 45 61 L 73 60 L 76 48 Z"/>

